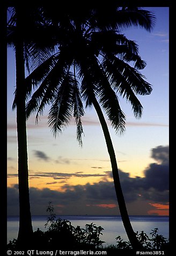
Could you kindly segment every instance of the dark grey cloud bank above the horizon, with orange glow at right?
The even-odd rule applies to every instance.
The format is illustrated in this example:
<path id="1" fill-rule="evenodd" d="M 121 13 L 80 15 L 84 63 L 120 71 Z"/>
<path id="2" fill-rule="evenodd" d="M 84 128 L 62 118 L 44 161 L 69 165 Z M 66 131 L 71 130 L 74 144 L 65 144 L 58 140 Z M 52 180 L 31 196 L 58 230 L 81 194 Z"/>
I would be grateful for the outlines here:
<path id="1" fill-rule="evenodd" d="M 151 163 L 144 170 L 144 177 L 130 177 L 129 173 L 119 170 L 121 186 L 129 215 L 165 214 L 168 208 L 168 147 L 152 148 L 151 155 L 158 163 Z M 12 174 L 11 174 L 12 175 Z M 54 180 L 69 179 L 72 176 L 102 176 L 93 184 L 70 186 L 63 190 L 30 188 L 31 211 L 33 215 L 44 215 L 48 202 L 56 205 L 56 214 L 62 215 L 114 215 L 120 214 L 116 200 L 112 172 L 104 174 L 42 173 L 33 177 L 52 176 Z M 110 179 L 107 179 L 110 178 Z M 56 181 L 54 181 L 56 182 Z M 59 206 L 60 205 L 60 206 Z M 61 207 L 62 205 L 62 207 Z M 8 214 L 18 215 L 18 186 L 8 188 Z"/>

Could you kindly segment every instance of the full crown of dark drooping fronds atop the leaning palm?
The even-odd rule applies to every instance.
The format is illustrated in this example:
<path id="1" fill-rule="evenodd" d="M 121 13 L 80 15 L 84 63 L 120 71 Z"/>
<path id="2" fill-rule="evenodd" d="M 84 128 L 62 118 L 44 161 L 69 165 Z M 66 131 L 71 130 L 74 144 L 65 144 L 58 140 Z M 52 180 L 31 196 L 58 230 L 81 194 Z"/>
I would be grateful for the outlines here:
<path id="1" fill-rule="evenodd" d="M 58 10 L 53 13 L 53 9 L 32 9 L 38 22 L 25 19 L 28 33 L 24 32 L 24 56 L 28 71 L 32 71 L 25 81 L 26 101 L 33 94 L 26 104 L 26 116 L 36 112 L 38 120 L 45 106 L 51 104 L 49 126 L 56 134 L 68 125 L 73 114 L 79 145 L 82 145 L 84 115 L 80 91 L 86 106 L 92 105 L 93 97 L 99 99 L 117 132 L 124 132 L 126 121 L 117 95 L 131 103 L 138 118 L 143 108 L 136 95 L 152 91 L 151 84 L 137 71 L 146 65 L 138 55 L 138 45 L 120 34 L 120 30 L 138 26 L 151 31 L 155 16 L 138 7 L 116 5 L 103 4 L 101 8 L 98 4 L 90 5 L 81 14 L 65 6 L 64 11 L 59 10 L 60 15 Z M 9 22 L 9 44 L 15 35 L 15 25 L 14 15 Z M 32 28 L 34 38 L 30 41 Z M 54 46 L 58 47 L 55 54 Z M 77 65 L 80 89 L 76 75 L 69 72 L 72 63 Z"/>

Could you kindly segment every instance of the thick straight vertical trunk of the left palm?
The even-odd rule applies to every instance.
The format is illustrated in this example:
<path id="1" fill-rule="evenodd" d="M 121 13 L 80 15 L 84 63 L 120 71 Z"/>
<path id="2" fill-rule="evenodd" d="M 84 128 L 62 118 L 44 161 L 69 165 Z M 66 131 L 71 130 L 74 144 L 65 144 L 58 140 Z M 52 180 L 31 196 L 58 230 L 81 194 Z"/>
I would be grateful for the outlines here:
<path id="1" fill-rule="evenodd" d="M 19 16 L 18 16 L 19 17 Z M 20 22 L 20 19 L 17 19 Z M 22 23 L 23 24 L 23 23 Z M 18 27 L 18 24 L 17 24 Z M 19 27 L 18 27 L 19 28 Z M 27 134 L 25 113 L 25 63 L 23 40 L 16 42 L 16 106 L 17 106 L 17 137 L 18 137 L 18 184 L 19 184 L 19 231 L 18 243 L 25 244 L 32 233 L 30 211 L 30 193 L 28 186 Z"/>

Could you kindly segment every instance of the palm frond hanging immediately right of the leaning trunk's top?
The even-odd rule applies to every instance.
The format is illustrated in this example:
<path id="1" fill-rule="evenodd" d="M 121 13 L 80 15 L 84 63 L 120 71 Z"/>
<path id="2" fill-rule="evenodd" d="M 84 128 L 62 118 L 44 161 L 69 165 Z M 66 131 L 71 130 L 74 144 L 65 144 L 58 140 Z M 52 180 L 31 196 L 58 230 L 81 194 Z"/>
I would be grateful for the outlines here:
<path id="1" fill-rule="evenodd" d="M 86 65 L 89 65 L 89 63 L 86 63 Z M 112 127 L 116 132 L 123 133 L 125 131 L 125 115 L 120 108 L 118 97 L 111 88 L 111 84 L 95 56 L 92 57 L 91 65 L 87 66 L 86 70 L 89 70 L 89 72 L 84 72 L 84 79 L 82 80 L 83 96 L 89 98 L 91 102 L 91 96 L 98 95 L 100 104 L 111 121 Z M 87 88 L 89 88 L 89 91 L 86 90 Z M 88 93 L 89 95 L 87 95 Z"/>

